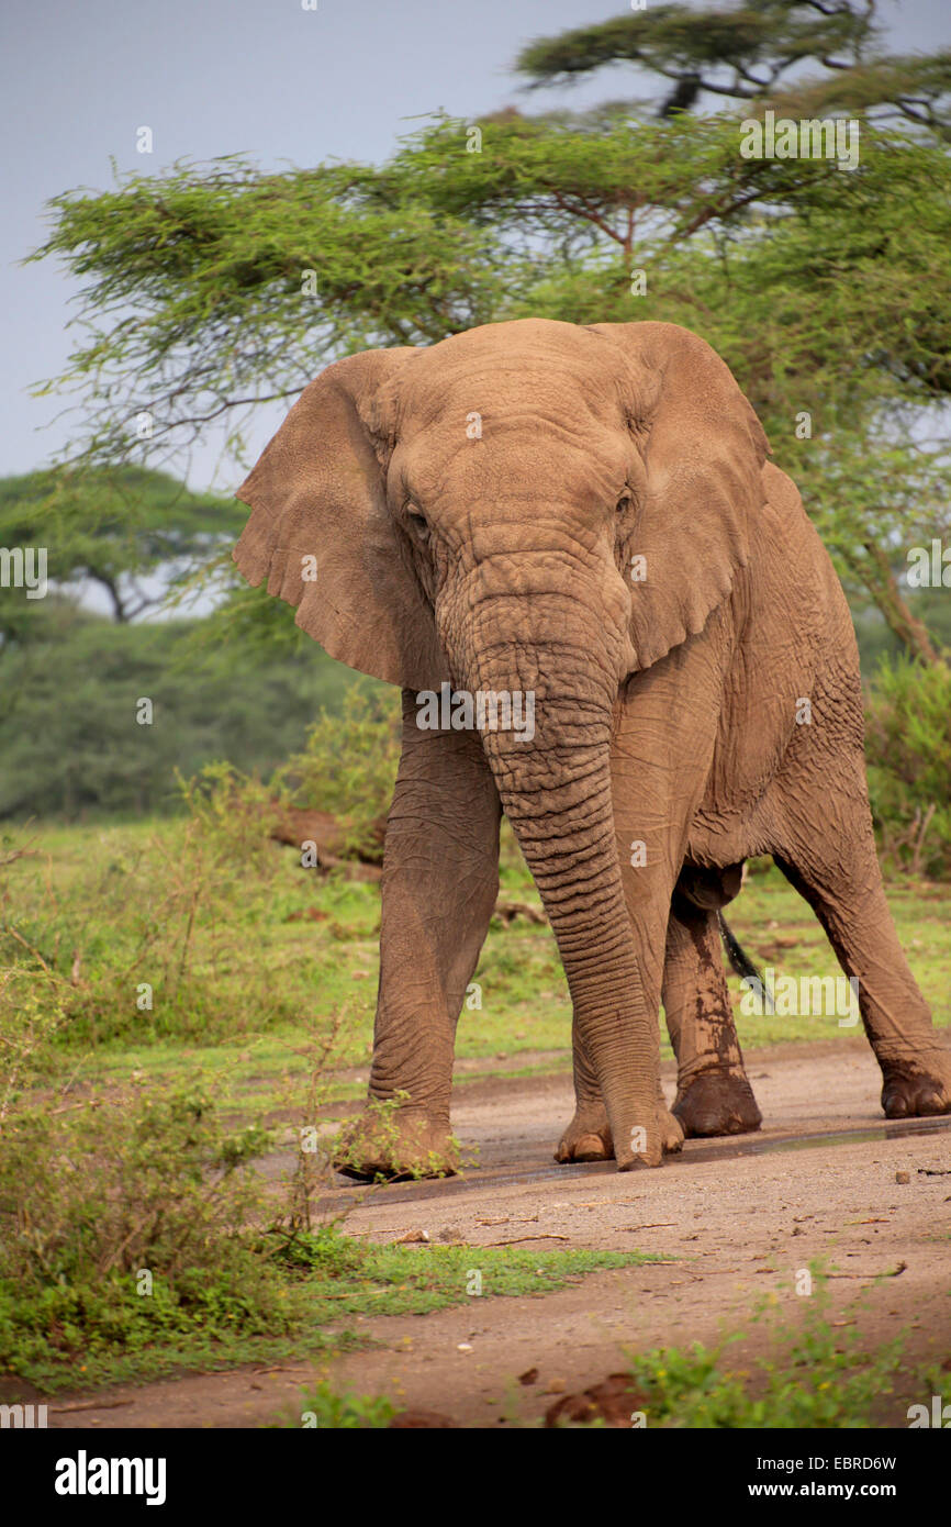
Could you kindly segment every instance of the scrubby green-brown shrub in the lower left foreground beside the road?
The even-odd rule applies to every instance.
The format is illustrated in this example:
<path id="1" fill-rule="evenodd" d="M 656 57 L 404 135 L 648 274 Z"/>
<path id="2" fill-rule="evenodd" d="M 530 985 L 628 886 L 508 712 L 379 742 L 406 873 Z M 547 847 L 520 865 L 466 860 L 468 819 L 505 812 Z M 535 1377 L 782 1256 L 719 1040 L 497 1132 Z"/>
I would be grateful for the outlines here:
<path id="1" fill-rule="evenodd" d="M 0 980 L 0 1370 L 63 1382 L 114 1362 L 168 1367 L 176 1348 L 234 1361 L 235 1342 L 299 1332 L 314 1269 L 343 1280 L 365 1255 L 314 1212 L 327 1154 L 275 1185 L 269 1130 L 226 1127 L 235 1096 L 133 1081 L 98 1093 L 63 1064 L 61 986 Z M 24 1008 L 31 993 L 37 1000 Z M 14 997 L 6 1000 L 15 988 Z M 69 991 L 69 988 L 66 988 Z M 322 1101 L 339 1025 L 307 1052 L 301 1118 Z M 282 1200 L 285 1208 L 282 1208 Z M 319 1332 L 316 1341 L 322 1341 Z"/>

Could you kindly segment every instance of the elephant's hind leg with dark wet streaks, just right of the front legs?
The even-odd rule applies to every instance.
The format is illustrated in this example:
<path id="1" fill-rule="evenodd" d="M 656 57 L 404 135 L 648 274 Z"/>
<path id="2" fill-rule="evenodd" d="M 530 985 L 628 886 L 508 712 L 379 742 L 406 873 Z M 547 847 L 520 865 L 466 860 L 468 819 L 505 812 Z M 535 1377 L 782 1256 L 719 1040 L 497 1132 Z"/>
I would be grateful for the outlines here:
<path id="1" fill-rule="evenodd" d="M 746 1135 L 762 1113 L 743 1069 L 714 912 L 675 893 L 664 957 L 664 1011 L 678 1060 L 673 1113 L 684 1135 Z"/>

